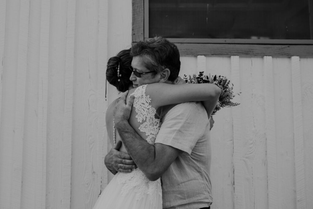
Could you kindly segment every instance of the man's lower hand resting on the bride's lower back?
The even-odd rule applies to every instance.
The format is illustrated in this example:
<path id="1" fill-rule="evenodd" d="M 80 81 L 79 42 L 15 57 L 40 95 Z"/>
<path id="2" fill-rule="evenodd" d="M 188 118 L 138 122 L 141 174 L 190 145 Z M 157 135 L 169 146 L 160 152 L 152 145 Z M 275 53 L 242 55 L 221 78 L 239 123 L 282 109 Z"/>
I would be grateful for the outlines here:
<path id="1" fill-rule="evenodd" d="M 121 145 L 122 142 L 118 141 L 104 159 L 105 166 L 114 175 L 117 171 L 130 173 L 133 168 L 137 167 L 129 154 L 118 151 Z"/>

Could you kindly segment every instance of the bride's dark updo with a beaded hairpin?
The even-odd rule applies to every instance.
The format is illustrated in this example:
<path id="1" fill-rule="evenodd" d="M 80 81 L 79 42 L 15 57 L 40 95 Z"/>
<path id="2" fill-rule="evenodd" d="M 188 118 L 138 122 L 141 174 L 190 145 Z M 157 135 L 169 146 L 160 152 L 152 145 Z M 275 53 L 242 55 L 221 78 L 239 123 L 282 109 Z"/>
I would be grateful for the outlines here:
<path id="1" fill-rule="evenodd" d="M 117 88 L 118 91 L 125 92 L 132 85 L 131 61 L 133 56 L 130 55 L 131 49 L 121 50 L 116 56 L 111 57 L 106 68 L 106 80 Z"/>

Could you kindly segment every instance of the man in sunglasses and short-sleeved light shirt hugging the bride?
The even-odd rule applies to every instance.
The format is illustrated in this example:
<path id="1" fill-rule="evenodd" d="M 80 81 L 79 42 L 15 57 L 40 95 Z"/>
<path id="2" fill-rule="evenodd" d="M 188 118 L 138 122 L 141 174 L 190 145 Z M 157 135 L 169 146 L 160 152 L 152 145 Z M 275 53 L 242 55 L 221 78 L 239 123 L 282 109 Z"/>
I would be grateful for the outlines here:
<path id="1" fill-rule="evenodd" d="M 132 73 L 134 87 L 179 82 L 179 51 L 167 39 L 158 37 L 139 42 L 132 47 L 131 54 L 134 71 L 144 75 L 136 77 Z M 210 104 L 212 111 L 221 92 L 218 90 Z M 163 208 L 209 208 L 212 203 L 210 124 L 201 102 L 163 107 L 162 126 L 154 145 L 148 144 L 129 125 L 131 105 L 120 100 L 114 115 L 115 127 L 130 156 L 111 150 L 105 158 L 107 168 L 127 171 L 133 166 L 132 159 L 149 180 L 162 176 Z"/>

